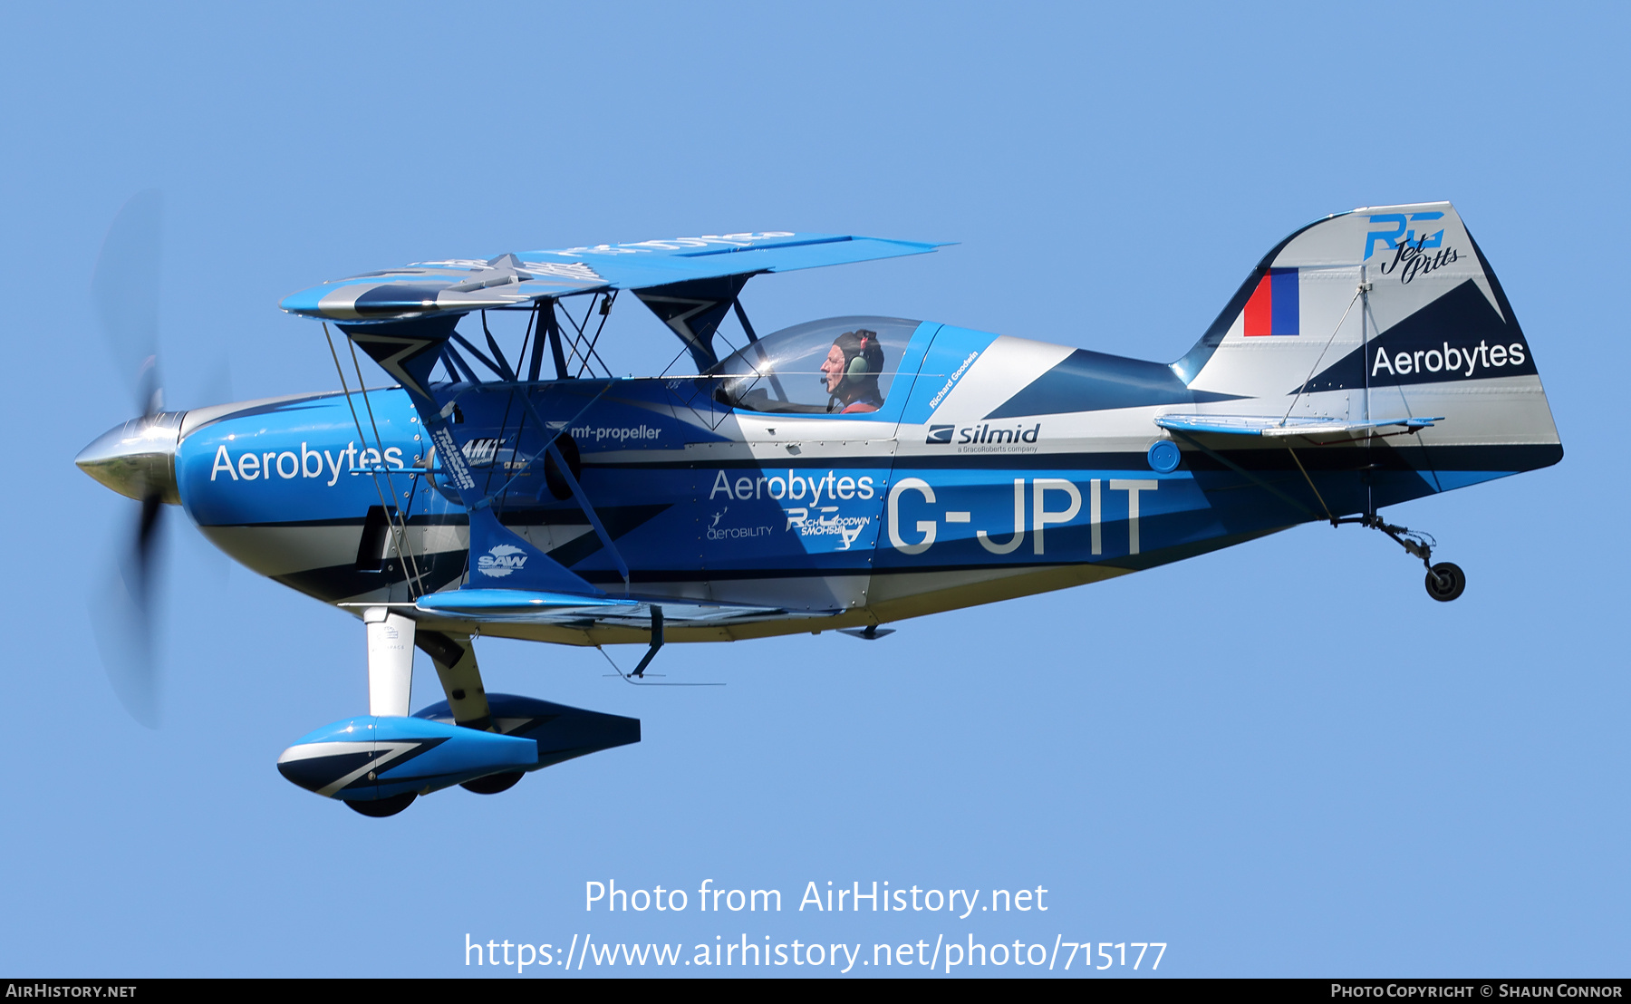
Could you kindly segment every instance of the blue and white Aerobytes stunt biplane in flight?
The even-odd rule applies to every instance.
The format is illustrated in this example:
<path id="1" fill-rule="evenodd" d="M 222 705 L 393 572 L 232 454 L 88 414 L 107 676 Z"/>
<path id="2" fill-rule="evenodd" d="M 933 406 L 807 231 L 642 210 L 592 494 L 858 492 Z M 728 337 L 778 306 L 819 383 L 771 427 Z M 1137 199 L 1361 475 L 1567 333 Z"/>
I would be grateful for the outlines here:
<path id="1" fill-rule="evenodd" d="M 568 645 L 846 631 L 1098 582 L 1298 523 L 1359 523 L 1465 577 L 1383 507 L 1562 456 L 1507 297 L 1447 202 L 1287 236 L 1182 359 L 938 321 L 758 336 L 763 272 L 935 251 L 726 233 L 369 272 L 282 308 L 349 339 L 341 391 L 148 412 L 77 463 L 365 624 L 369 714 L 279 769 L 367 815 L 638 742 L 639 722 L 488 694 L 471 637 Z M 692 376 L 618 378 L 620 293 Z M 509 346 L 491 311 L 527 311 Z M 729 315 L 744 349 L 718 359 Z M 519 329 L 520 324 L 515 324 Z M 357 352 L 395 381 L 360 390 Z M 347 375 L 349 373 L 349 375 Z M 599 373 L 599 375 L 597 375 Z M 445 701 L 409 714 L 414 647 Z"/>

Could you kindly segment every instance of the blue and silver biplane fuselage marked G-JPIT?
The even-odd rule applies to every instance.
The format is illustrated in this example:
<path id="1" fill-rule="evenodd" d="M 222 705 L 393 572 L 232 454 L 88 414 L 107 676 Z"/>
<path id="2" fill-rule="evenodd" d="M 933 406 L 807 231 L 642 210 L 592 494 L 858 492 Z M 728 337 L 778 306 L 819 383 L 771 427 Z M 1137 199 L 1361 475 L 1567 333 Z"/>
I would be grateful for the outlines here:
<path id="1" fill-rule="evenodd" d="M 480 383 L 444 385 L 439 399 L 457 401 L 465 461 L 501 522 L 577 575 L 621 590 L 621 557 L 630 595 L 788 611 L 682 626 L 670 641 L 877 624 L 1063 588 L 1561 456 L 1538 376 L 1474 367 L 1414 385 L 1416 412 L 1504 380 L 1504 407 L 1538 403 L 1532 442 L 1468 437 L 1470 424 L 1458 442 L 1447 424 L 1295 455 L 1186 448 L 1158 469 L 1151 447 L 1171 437 L 1155 417 L 1287 403 L 1196 391 L 1161 363 L 935 323 L 913 323 L 900 344 L 882 406 L 861 414 L 776 411 L 732 398 L 718 373 L 540 381 L 517 391 L 532 411 L 514 388 Z M 1316 391 L 1300 407 L 1352 411 L 1355 394 Z M 541 438 L 527 414 L 569 437 L 617 556 L 533 456 Z M 413 601 L 468 575 L 465 509 L 401 390 L 189 412 L 175 478 L 215 546 L 326 603 Z M 481 631 L 641 641 L 592 623 Z"/>

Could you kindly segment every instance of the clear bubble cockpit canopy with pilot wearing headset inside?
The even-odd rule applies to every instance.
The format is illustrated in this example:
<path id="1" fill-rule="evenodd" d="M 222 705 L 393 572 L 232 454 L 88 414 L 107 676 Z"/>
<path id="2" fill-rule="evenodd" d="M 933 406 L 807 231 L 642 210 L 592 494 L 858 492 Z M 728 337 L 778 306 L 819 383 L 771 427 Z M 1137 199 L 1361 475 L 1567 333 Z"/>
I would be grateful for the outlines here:
<path id="1" fill-rule="evenodd" d="M 846 316 L 806 321 L 744 346 L 706 375 L 723 378 L 714 391 L 716 399 L 744 411 L 794 414 L 874 411 L 889 396 L 907 342 L 917 329 L 918 321 L 904 318 Z M 855 365 L 856 342 L 869 346 L 860 352 L 864 355 L 864 365 Z M 840 349 L 838 354 L 833 354 L 835 347 Z M 838 355 L 843 355 L 842 362 Z M 840 365 L 829 363 L 829 357 Z"/>

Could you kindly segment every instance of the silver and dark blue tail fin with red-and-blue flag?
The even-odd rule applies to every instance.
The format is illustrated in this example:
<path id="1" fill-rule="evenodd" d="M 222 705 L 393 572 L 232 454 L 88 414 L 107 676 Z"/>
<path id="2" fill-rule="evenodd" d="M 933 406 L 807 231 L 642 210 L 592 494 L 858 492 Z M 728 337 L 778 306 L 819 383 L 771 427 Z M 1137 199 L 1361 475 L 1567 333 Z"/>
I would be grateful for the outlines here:
<path id="1" fill-rule="evenodd" d="M 1292 233 L 1173 370 L 1293 421 L 1430 416 L 1419 442 L 1461 450 L 1435 453 L 1479 468 L 1473 479 L 1562 456 L 1528 337 L 1448 202 L 1355 209 Z"/>

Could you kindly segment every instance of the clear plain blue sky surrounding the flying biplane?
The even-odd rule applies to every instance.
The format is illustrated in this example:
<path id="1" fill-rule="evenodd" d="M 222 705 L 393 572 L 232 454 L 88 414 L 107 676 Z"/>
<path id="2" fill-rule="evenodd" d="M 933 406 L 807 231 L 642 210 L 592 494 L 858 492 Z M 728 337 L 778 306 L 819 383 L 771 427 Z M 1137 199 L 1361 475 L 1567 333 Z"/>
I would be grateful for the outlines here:
<path id="1" fill-rule="evenodd" d="M 466 934 L 687 955 L 716 936 L 869 950 L 974 934 L 1160 940 L 1160 971 L 1184 976 L 1624 971 L 1623 8 L 7 18 L 0 968 L 465 975 Z M 760 331 L 887 313 L 1165 362 L 1298 225 L 1450 199 L 1528 332 L 1567 456 L 1391 513 L 1468 570 L 1453 605 L 1380 536 L 1305 526 L 877 644 L 661 655 L 672 680 L 723 688 L 636 689 L 594 650 L 484 642 L 489 689 L 638 716 L 644 742 L 380 823 L 274 769 L 365 709 L 360 626 L 227 570 L 181 522 L 166 727 L 130 722 L 99 668 L 86 597 L 134 504 L 72 458 L 130 404 L 86 287 L 114 212 L 150 186 L 176 406 L 223 370 L 240 399 L 329 390 L 318 329 L 276 310 L 323 279 L 768 228 L 961 243 L 760 279 L 744 297 Z M 618 323 L 613 368 L 672 357 L 656 321 Z M 422 673 L 416 706 L 434 689 Z M 592 880 L 705 878 L 786 906 L 582 908 Z M 829 880 L 1045 887 L 1049 909 L 794 908 Z"/>

